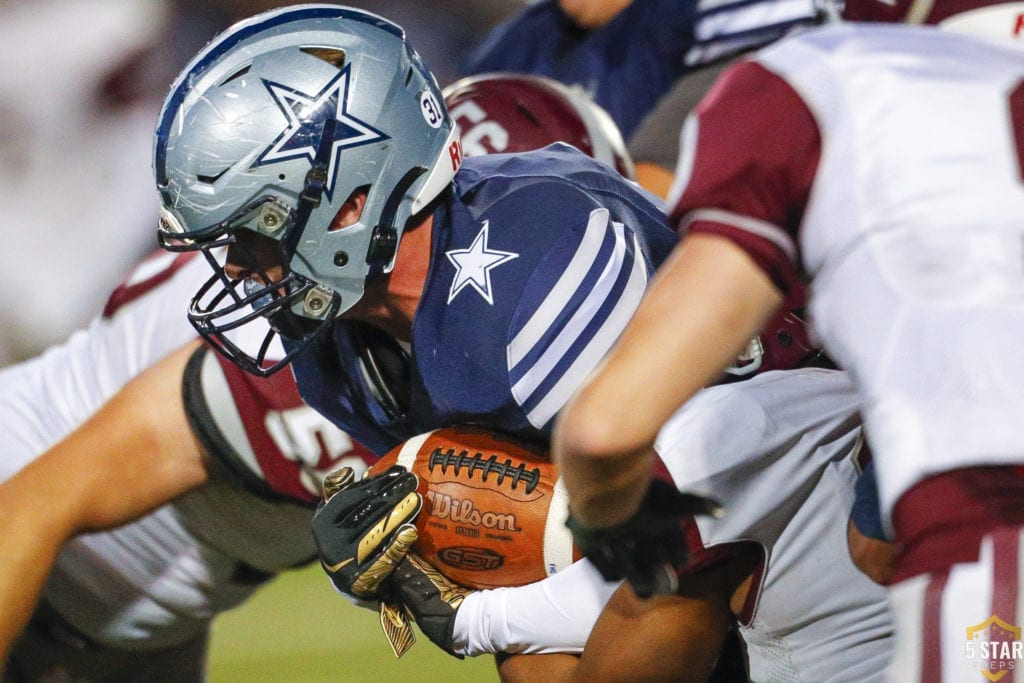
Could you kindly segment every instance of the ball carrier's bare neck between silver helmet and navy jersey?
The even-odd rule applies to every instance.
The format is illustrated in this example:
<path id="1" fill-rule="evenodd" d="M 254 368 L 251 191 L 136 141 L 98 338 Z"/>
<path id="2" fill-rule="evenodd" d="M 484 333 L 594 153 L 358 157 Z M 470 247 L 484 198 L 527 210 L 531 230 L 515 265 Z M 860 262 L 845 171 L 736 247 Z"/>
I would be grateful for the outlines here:
<path id="1" fill-rule="evenodd" d="M 413 318 L 430 268 L 432 228 L 433 216 L 427 214 L 404 230 L 390 274 L 367 283 L 362 299 L 345 317 L 373 323 L 399 341 L 412 341 Z"/>

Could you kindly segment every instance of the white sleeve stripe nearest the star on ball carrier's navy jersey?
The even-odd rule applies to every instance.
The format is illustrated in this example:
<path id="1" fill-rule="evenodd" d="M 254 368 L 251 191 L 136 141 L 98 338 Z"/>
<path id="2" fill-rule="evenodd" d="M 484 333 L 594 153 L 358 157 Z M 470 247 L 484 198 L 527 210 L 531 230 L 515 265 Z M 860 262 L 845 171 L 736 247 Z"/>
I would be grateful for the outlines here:
<path id="1" fill-rule="evenodd" d="M 565 271 L 551 288 L 551 293 L 548 294 L 544 303 L 537 307 L 537 311 L 508 345 L 506 357 L 509 368 L 515 368 L 519 365 L 519 361 L 537 345 L 548 328 L 558 319 L 565 302 L 572 298 L 580 283 L 587 276 L 590 266 L 597 258 L 601 244 L 604 242 L 608 217 L 607 209 L 595 209 L 591 212 L 590 220 L 587 222 L 587 230 L 577 253 L 572 255 L 572 260 L 565 266 Z"/>

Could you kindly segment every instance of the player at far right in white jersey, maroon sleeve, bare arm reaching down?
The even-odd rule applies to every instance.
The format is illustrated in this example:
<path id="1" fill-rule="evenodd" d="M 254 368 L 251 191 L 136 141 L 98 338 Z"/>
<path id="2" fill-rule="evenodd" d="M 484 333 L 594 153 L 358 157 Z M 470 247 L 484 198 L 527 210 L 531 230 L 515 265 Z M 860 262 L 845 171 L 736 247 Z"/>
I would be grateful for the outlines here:
<path id="1" fill-rule="evenodd" d="M 811 279 L 817 331 L 856 381 L 887 530 L 903 548 L 891 675 L 994 676 L 1012 663 L 972 658 L 965 634 L 1021 621 L 1021 7 L 847 10 L 950 31 L 807 32 L 718 82 L 682 131 L 672 215 L 686 238 L 563 412 L 555 455 L 578 536 L 616 556 L 643 517 L 660 425 Z M 609 410 L 621 403 L 629 419 Z M 628 569 L 641 583 L 667 571 L 668 555 L 651 555 Z"/>

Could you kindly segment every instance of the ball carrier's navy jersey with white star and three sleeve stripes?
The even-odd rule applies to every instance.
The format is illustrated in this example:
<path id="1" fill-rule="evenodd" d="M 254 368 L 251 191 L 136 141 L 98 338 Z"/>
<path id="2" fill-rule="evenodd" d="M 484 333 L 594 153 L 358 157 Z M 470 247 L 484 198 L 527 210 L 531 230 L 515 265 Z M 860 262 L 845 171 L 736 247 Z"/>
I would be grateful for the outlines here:
<path id="1" fill-rule="evenodd" d="M 564 144 L 467 159 L 433 226 L 404 377 L 395 342 L 345 319 L 293 362 L 378 453 L 460 423 L 546 441 L 676 243 L 655 198 Z"/>

